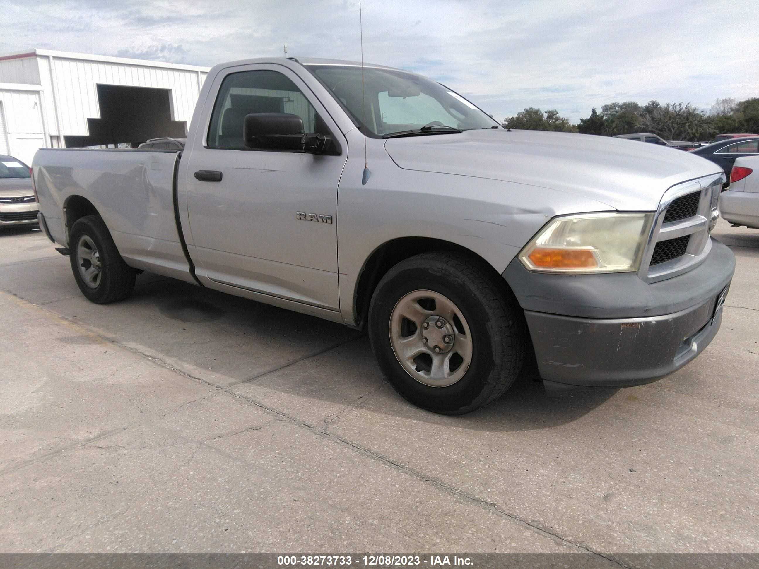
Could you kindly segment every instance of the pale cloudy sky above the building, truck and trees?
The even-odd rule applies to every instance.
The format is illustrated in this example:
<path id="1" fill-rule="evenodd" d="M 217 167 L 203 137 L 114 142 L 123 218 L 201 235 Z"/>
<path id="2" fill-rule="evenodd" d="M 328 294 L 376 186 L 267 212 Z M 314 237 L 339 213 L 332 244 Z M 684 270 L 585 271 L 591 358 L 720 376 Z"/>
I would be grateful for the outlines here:
<path id="1" fill-rule="evenodd" d="M 360 60 L 352 0 L 0 0 L 0 55 L 55 49 L 208 65 Z M 427 75 L 496 119 L 527 107 L 759 96 L 756 0 L 363 0 L 364 60 Z"/>

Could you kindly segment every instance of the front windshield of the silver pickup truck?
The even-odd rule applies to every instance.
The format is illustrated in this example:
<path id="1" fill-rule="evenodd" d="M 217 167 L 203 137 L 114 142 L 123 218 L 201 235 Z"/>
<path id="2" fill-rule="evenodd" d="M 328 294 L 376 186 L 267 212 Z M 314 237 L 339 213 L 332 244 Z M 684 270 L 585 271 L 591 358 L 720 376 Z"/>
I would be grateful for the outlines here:
<path id="1" fill-rule="evenodd" d="M 364 130 L 361 67 L 319 64 L 306 67 L 332 93 L 354 124 Z M 369 137 L 381 138 L 430 126 L 459 130 L 499 126 L 458 93 L 419 75 L 364 68 L 364 92 Z"/>

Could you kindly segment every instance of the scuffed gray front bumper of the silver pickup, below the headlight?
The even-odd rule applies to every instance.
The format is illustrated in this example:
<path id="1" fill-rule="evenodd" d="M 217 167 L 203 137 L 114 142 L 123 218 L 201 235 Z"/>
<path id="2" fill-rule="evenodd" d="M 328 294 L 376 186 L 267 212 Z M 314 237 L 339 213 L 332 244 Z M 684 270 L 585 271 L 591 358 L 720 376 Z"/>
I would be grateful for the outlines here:
<path id="1" fill-rule="evenodd" d="M 700 354 L 720 329 L 735 270 L 732 252 L 712 245 L 700 266 L 650 285 L 632 273 L 531 273 L 515 259 L 503 276 L 525 309 L 546 387 L 640 385 Z"/>

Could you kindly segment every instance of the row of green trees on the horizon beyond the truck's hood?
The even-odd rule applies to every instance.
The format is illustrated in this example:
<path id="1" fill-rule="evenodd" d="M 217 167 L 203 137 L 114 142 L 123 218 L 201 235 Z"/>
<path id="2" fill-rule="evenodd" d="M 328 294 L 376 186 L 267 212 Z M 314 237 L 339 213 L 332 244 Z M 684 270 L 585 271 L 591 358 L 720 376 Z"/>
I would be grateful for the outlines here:
<path id="1" fill-rule="evenodd" d="M 513 117 L 505 118 L 507 128 L 553 130 L 581 134 L 634 134 L 650 132 L 664 140 L 713 140 L 717 134 L 759 134 L 759 98 L 736 101 L 717 99 L 708 111 L 691 103 L 650 101 L 640 105 L 634 101 L 610 102 L 595 108 L 587 118 L 572 124 L 559 116 L 556 109 L 543 112 L 540 108 L 525 108 Z"/>

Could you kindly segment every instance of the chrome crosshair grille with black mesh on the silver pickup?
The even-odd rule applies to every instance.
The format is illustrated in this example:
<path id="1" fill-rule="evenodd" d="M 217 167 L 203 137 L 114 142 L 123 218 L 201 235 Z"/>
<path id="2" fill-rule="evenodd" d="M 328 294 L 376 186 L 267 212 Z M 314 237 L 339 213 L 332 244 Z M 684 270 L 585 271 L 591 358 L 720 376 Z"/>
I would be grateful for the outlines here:
<path id="1" fill-rule="evenodd" d="M 711 174 L 664 193 L 641 259 L 641 279 L 662 281 L 693 269 L 706 258 L 711 250 L 710 222 L 717 213 L 713 199 L 724 181 L 724 174 Z"/>

